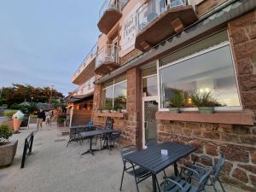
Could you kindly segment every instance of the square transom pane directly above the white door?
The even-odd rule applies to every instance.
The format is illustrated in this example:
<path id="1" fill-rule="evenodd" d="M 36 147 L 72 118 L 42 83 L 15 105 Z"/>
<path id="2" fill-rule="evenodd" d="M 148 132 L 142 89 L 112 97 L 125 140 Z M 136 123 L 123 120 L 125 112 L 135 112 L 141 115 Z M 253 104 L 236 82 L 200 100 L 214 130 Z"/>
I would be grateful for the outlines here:
<path id="1" fill-rule="evenodd" d="M 143 96 L 157 96 L 156 75 L 143 79 Z"/>

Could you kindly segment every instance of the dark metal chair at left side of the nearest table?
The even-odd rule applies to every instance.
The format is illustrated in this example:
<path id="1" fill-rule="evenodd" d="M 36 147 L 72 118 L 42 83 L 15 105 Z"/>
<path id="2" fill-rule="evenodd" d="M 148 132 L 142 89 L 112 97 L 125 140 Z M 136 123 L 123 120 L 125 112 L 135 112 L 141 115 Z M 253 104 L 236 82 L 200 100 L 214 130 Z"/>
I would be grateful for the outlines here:
<path id="1" fill-rule="evenodd" d="M 127 160 L 125 160 L 125 155 L 132 154 L 136 151 L 137 151 L 137 148 L 135 145 L 125 146 L 124 148 L 121 148 L 121 150 L 120 150 L 120 154 L 121 154 L 123 164 L 124 164 L 122 179 L 121 179 L 121 184 L 120 184 L 120 191 L 122 190 L 125 172 L 135 178 L 137 192 L 139 192 L 137 184 L 143 182 L 143 180 L 152 176 L 151 172 L 148 172 L 148 171 L 144 170 L 142 167 L 134 165 L 134 164 L 128 162 Z M 127 166 L 127 164 L 129 166 Z"/>

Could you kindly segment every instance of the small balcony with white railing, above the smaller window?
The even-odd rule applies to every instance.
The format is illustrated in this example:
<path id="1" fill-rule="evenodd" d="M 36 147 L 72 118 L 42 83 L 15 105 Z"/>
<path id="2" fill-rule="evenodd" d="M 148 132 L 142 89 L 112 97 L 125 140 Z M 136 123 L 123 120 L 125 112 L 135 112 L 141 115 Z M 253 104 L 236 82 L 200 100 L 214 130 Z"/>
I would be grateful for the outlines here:
<path id="1" fill-rule="evenodd" d="M 119 67 L 119 47 L 107 44 L 96 54 L 95 73 L 104 75 Z"/>

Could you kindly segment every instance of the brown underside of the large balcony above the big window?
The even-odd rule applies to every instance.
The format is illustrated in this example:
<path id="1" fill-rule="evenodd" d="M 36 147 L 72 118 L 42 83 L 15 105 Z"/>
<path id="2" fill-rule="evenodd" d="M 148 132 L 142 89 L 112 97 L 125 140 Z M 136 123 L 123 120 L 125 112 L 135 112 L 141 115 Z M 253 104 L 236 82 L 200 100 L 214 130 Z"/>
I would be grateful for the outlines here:
<path id="1" fill-rule="evenodd" d="M 135 47 L 142 51 L 150 49 L 166 38 L 181 32 L 186 26 L 198 20 L 192 6 L 180 6 L 159 15 L 142 32 L 137 34 Z"/>

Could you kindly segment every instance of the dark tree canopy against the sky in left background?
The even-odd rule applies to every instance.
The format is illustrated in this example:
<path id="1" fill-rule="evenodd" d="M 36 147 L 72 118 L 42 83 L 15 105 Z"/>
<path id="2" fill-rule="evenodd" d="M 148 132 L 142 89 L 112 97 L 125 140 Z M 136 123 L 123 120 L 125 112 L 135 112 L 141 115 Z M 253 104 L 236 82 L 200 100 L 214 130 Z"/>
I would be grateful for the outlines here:
<path id="1" fill-rule="evenodd" d="M 13 103 L 27 102 L 49 102 L 52 94 L 52 101 L 62 99 L 64 96 L 57 90 L 50 87 L 38 88 L 26 84 L 13 84 L 12 87 L 4 87 L 0 105 L 7 104 L 10 107 Z"/>

